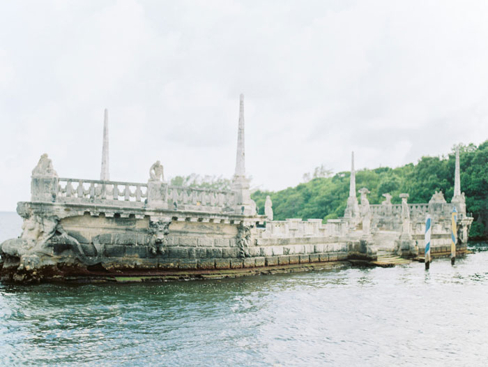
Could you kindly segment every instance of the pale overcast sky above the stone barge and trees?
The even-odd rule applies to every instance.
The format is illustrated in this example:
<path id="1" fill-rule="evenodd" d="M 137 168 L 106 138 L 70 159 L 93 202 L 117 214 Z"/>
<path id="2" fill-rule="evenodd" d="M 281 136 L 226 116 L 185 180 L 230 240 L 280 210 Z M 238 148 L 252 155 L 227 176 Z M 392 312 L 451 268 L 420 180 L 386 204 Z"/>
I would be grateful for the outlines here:
<path id="1" fill-rule="evenodd" d="M 488 139 L 488 1 L 3 1 L 0 210 L 60 177 L 234 173 L 253 186 L 398 166 Z"/>

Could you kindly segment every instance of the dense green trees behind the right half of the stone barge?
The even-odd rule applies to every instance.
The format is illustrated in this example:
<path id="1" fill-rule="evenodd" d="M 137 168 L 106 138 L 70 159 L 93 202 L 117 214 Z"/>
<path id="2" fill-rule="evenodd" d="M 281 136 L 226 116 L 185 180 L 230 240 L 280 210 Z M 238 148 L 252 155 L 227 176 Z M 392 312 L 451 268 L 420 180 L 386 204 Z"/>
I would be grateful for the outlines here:
<path id="1" fill-rule="evenodd" d="M 488 235 L 488 140 L 476 147 L 460 147 L 461 189 L 466 193 L 466 210 L 475 222 L 471 237 Z M 320 170 L 319 170 L 320 171 Z M 409 193 L 409 202 L 429 202 L 435 190 L 442 190 L 446 200 L 454 191 L 455 149 L 448 156 L 422 157 L 416 165 L 379 167 L 356 172 L 356 187 L 371 191 L 369 202 L 380 204 L 382 194 L 390 193 L 392 202 L 399 203 L 400 193 Z M 328 172 L 327 172 L 328 173 Z M 317 177 L 293 188 L 277 192 L 257 190 L 252 199 L 264 214 L 266 195 L 273 200 L 275 220 L 286 218 L 338 218 L 344 216 L 349 196 L 350 172 L 339 172 L 332 177 Z"/>

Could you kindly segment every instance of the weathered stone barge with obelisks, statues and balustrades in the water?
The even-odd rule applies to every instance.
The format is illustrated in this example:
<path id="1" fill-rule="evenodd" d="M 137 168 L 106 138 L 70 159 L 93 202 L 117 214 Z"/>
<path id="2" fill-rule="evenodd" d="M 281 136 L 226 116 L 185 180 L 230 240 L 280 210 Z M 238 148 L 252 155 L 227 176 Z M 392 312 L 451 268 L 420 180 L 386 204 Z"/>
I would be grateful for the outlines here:
<path id="1" fill-rule="evenodd" d="M 0 245 L 1 280 L 17 283 L 219 278 L 342 267 L 374 262 L 377 252 L 416 257 L 425 216 L 434 220 L 432 255 L 450 246 L 457 207 L 457 250 L 466 251 L 466 215 L 456 156 L 455 196 L 434 193 L 426 204 L 370 205 L 356 194 L 354 160 L 344 218 L 273 220 L 270 198 L 257 215 L 245 177 L 244 106 L 240 101 L 236 171 L 231 190 L 167 184 L 160 162 L 146 183 L 109 180 L 105 113 L 100 180 L 59 178 L 43 154 L 31 177 L 31 201 L 19 202 L 22 234 Z"/>

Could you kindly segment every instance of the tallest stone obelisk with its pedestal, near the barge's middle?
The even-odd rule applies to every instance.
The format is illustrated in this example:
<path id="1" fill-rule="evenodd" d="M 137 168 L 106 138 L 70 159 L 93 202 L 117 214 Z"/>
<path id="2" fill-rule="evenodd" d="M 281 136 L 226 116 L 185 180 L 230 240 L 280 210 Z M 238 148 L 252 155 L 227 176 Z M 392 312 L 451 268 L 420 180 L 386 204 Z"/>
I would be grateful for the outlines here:
<path id="1" fill-rule="evenodd" d="M 232 179 L 231 190 L 236 193 L 236 214 L 255 216 L 257 214 L 256 203 L 251 200 L 249 179 L 245 177 L 244 135 L 244 96 L 241 94 L 237 133 L 236 172 Z"/>

